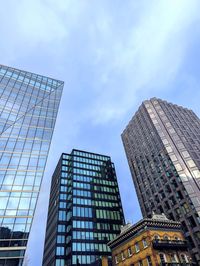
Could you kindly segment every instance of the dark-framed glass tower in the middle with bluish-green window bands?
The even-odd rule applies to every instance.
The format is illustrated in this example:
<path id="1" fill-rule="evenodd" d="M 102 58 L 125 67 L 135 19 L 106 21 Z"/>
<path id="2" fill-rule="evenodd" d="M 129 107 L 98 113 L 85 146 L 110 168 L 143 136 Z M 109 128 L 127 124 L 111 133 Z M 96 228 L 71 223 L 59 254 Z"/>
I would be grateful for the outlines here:
<path id="1" fill-rule="evenodd" d="M 43 265 L 90 265 L 111 256 L 107 243 L 123 224 L 111 158 L 63 153 L 52 177 Z"/>

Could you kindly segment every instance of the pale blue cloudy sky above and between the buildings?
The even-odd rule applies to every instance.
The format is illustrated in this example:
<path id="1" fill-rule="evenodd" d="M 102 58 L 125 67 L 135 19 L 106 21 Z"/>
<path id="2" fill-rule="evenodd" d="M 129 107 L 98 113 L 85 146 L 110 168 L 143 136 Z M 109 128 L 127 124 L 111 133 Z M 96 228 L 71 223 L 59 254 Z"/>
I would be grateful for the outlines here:
<path id="1" fill-rule="evenodd" d="M 151 97 L 200 116 L 199 0 L 7 0 L 0 63 L 65 82 L 27 249 L 42 265 L 51 176 L 73 148 L 115 163 L 126 221 L 142 218 L 121 133 Z"/>

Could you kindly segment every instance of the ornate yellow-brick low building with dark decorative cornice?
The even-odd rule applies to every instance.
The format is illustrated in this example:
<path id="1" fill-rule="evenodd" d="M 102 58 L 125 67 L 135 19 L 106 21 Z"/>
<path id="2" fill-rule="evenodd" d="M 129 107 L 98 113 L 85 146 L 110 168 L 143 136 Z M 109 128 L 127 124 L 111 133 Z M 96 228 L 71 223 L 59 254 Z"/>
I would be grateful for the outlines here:
<path id="1" fill-rule="evenodd" d="M 195 265 L 181 224 L 164 214 L 127 224 L 108 245 L 117 266 Z"/>

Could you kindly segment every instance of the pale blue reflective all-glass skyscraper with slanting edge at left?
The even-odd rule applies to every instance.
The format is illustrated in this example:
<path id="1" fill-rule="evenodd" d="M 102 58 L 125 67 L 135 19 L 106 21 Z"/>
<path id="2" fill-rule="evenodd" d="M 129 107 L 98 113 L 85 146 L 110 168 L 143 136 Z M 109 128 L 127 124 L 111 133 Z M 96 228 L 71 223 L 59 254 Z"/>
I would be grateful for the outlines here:
<path id="1" fill-rule="evenodd" d="M 0 265 L 22 265 L 63 82 L 0 65 Z"/>

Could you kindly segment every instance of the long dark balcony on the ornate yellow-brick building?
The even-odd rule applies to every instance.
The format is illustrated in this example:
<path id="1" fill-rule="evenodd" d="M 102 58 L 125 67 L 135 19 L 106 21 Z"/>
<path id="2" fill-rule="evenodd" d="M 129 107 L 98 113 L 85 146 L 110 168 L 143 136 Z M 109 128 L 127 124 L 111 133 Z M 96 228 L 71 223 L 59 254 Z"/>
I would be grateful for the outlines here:
<path id="1" fill-rule="evenodd" d="M 188 245 L 187 242 L 183 240 L 155 239 L 153 240 L 153 248 L 157 250 L 187 250 Z"/>

